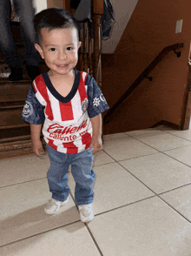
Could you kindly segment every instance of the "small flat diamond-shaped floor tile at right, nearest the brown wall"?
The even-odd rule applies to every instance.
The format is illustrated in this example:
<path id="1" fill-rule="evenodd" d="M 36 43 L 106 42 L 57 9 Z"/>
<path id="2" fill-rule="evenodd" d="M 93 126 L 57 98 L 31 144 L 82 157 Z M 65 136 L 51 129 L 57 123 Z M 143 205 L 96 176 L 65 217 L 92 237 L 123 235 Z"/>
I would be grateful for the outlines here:
<path id="1" fill-rule="evenodd" d="M 190 141 L 184 138 L 178 138 L 177 136 L 164 131 L 158 132 L 157 134 L 149 133 L 145 135 L 139 135 L 135 138 L 161 152 L 180 148 L 186 145 L 191 145 Z"/>

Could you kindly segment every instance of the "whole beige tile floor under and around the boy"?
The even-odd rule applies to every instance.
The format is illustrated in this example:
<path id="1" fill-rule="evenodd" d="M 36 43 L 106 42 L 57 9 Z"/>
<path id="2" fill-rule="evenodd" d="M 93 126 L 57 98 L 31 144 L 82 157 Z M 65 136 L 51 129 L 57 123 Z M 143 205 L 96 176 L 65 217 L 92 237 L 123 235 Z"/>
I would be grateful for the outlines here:
<path id="1" fill-rule="evenodd" d="M 108 135 L 95 155 L 95 219 L 79 220 L 74 181 L 54 216 L 49 159 L 0 160 L 2 256 L 191 256 L 191 130 Z"/>

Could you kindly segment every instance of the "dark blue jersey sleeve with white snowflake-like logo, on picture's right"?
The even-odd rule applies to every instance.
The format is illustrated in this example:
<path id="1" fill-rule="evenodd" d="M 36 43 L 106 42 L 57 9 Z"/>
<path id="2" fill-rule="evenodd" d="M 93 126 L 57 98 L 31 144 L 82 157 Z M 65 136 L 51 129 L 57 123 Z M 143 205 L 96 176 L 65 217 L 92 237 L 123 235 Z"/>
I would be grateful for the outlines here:
<path id="1" fill-rule="evenodd" d="M 87 95 L 89 99 L 88 114 L 89 118 L 94 118 L 103 111 L 107 111 L 109 109 L 109 105 L 93 77 L 88 76 L 86 84 L 88 86 Z"/>

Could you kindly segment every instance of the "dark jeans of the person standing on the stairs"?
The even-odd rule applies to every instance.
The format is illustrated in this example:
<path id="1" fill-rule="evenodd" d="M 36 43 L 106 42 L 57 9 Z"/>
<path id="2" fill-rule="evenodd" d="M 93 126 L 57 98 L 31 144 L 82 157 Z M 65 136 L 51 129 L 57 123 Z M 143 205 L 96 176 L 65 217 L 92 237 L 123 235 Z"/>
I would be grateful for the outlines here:
<path id="1" fill-rule="evenodd" d="M 37 66 L 40 56 L 36 51 L 36 32 L 33 18 L 35 10 L 32 0 L 13 0 L 16 14 L 19 17 L 21 33 L 23 37 L 24 50 L 23 60 L 26 65 Z M 6 64 L 11 67 L 23 67 L 22 57 L 16 51 L 16 44 L 10 30 L 11 5 L 10 0 L 1 0 L 0 4 L 0 48 L 5 57 Z"/>

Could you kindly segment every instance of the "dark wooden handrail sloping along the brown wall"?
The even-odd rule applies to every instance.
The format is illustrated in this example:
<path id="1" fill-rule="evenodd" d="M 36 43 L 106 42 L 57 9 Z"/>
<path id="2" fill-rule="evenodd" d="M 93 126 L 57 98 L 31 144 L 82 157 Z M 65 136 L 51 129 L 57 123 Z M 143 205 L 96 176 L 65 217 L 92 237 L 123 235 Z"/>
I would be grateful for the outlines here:
<path id="1" fill-rule="evenodd" d="M 120 112 L 122 107 L 125 105 L 124 101 L 128 98 L 128 96 L 135 91 L 135 88 L 142 83 L 142 80 L 148 76 L 148 74 L 155 68 L 157 64 L 159 64 L 163 57 L 165 57 L 169 51 L 175 51 L 176 49 L 182 48 L 184 44 L 173 44 L 165 47 L 157 57 L 148 65 L 148 67 L 142 72 L 142 74 L 136 78 L 135 82 L 131 84 L 127 91 L 124 92 L 121 98 L 109 109 L 107 114 L 103 118 L 103 124 L 106 125 L 109 121 L 116 116 L 117 113 Z"/>

